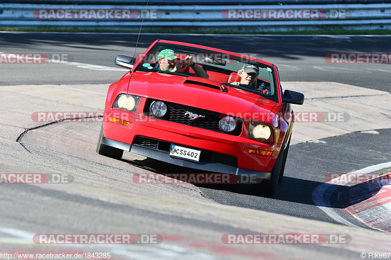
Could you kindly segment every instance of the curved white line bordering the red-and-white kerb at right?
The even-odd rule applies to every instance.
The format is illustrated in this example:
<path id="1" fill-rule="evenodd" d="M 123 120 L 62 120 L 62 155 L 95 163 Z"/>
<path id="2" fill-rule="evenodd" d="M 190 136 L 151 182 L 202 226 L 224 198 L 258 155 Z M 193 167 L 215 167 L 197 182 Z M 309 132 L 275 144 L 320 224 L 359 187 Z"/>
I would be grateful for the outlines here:
<path id="1" fill-rule="evenodd" d="M 352 173 L 358 174 L 357 175 L 357 178 L 358 178 L 360 176 L 359 175 L 360 173 L 366 174 L 366 173 L 378 171 L 378 170 L 381 170 L 381 169 L 384 169 L 387 167 L 391 167 L 391 161 L 372 165 L 369 167 L 365 167 L 365 168 L 362 168 L 362 169 L 354 171 L 354 172 L 346 173 L 340 177 L 334 178 L 333 180 L 329 180 L 326 183 L 322 183 L 321 185 L 316 187 L 314 189 L 314 191 L 312 192 L 312 200 L 314 201 L 315 205 L 318 208 L 320 208 L 322 211 L 324 211 L 331 219 L 333 219 L 337 222 L 340 222 L 344 225 L 358 227 L 357 225 L 350 223 L 348 220 L 343 219 L 341 216 L 339 216 L 336 212 L 334 212 L 332 210 L 331 204 L 330 204 L 330 196 L 333 194 L 333 192 L 336 189 L 339 188 L 339 185 L 334 184 L 334 183 L 338 183 L 338 181 L 336 181 L 336 180 L 341 179 L 341 177 L 343 178 L 343 176 L 345 176 L 347 174 L 352 174 Z M 333 184 L 331 184 L 331 183 L 333 183 Z M 341 186 L 343 186 L 343 185 L 341 185 Z"/>

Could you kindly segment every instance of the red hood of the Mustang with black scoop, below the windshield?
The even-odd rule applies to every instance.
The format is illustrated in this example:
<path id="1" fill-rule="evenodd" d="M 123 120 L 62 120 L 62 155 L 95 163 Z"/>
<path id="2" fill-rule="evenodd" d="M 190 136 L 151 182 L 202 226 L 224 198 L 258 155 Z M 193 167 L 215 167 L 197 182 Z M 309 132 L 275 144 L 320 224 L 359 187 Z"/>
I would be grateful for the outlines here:
<path id="1" fill-rule="evenodd" d="M 226 90 L 221 91 L 219 86 L 220 83 L 215 80 L 197 77 L 134 72 L 129 82 L 128 93 L 223 114 L 235 114 L 240 118 L 260 119 L 260 113 L 267 116 L 276 105 L 275 101 L 255 93 L 234 87 L 225 87 Z"/>

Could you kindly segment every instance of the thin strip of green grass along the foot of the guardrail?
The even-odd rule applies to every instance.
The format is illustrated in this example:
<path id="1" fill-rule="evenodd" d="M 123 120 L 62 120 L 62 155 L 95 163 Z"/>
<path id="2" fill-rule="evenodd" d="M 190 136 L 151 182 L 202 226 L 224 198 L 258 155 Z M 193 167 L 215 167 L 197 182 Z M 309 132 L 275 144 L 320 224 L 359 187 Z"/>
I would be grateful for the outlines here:
<path id="1" fill-rule="evenodd" d="M 22 32 L 92 32 L 92 33 L 138 33 L 139 30 L 104 30 L 104 29 L 79 29 L 79 28 L 54 28 L 54 27 L 26 27 L 26 28 L 9 28 L 0 27 L 0 31 L 22 31 Z M 142 33 L 159 33 L 161 30 L 142 30 Z M 226 31 L 226 30 L 197 30 L 197 29 L 169 29 L 164 30 L 164 33 L 184 33 L 184 34 L 275 34 L 275 35 L 391 35 L 391 30 L 326 30 L 317 31 L 289 31 L 289 32 L 253 32 L 253 31 Z"/>

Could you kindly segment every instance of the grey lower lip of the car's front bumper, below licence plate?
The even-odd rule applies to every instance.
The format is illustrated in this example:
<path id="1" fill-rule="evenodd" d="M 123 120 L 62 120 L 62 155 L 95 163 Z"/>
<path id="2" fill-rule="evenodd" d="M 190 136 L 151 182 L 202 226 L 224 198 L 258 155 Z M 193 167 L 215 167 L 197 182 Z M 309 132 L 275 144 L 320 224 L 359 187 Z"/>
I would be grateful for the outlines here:
<path id="1" fill-rule="evenodd" d="M 129 144 L 124 143 L 116 140 L 112 140 L 106 137 L 102 138 L 102 143 L 111 147 L 115 147 L 124 151 L 129 151 L 131 153 L 143 155 L 148 158 L 152 158 L 155 160 L 161 160 L 165 161 L 174 165 L 192 168 L 192 169 L 198 169 L 203 171 L 210 171 L 210 172 L 218 172 L 218 173 L 228 173 L 228 174 L 234 174 L 239 176 L 248 176 L 253 175 L 258 179 L 266 179 L 270 180 L 271 174 L 269 172 L 260 172 L 260 171 L 254 171 L 254 170 L 248 170 L 243 169 L 239 167 L 233 167 L 229 165 L 224 165 L 222 163 L 217 162 L 205 162 L 205 161 L 199 161 L 199 162 L 192 162 L 188 160 L 181 160 L 172 158 L 169 155 L 169 152 L 161 151 L 153 148 L 143 147 L 141 145 L 137 144 Z"/>

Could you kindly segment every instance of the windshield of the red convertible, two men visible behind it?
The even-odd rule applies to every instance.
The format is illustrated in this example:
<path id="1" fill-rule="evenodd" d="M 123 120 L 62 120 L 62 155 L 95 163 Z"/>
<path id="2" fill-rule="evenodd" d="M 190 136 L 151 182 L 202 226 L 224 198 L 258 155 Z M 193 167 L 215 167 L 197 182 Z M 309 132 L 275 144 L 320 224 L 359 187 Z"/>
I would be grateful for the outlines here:
<path id="1" fill-rule="evenodd" d="M 189 56 L 191 57 L 190 59 Z M 184 77 L 203 77 L 203 72 L 195 68 L 193 63 L 195 63 L 195 66 L 199 66 L 203 72 L 206 72 L 209 80 L 215 80 L 226 86 L 256 93 L 267 99 L 278 101 L 276 78 L 272 66 L 250 60 L 249 58 L 202 48 L 157 42 L 139 62 L 134 71 L 159 72 Z M 192 66 L 188 66 L 189 64 Z M 248 75 L 256 76 L 256 80 L 249 80 L 243 84 L 243 75 L 248 77 L 248 75 L 242 74 L 243 67 L 246 66 L 253 68 L 255 66 L 258 76 L 252 73 L 255 72 L 254 69 L 245 70 L 248 72 Z"/>

